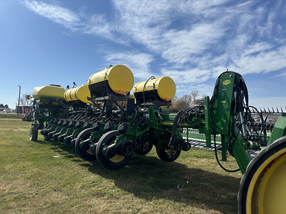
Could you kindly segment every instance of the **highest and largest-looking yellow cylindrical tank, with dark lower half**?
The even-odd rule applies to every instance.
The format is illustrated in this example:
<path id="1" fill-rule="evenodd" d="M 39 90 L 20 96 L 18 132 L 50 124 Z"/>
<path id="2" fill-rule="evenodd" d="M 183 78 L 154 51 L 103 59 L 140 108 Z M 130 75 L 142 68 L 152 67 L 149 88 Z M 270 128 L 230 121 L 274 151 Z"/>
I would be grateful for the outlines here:
<path id="1" fill-rule="evenodd" d="M 134 85 L 132 71 L 125 65 L 115 65 L 92 74 L 87 81 L 92 96 L 100 97 L 109 94 L 110 89 L 116 94 L 124 95 Z"/>

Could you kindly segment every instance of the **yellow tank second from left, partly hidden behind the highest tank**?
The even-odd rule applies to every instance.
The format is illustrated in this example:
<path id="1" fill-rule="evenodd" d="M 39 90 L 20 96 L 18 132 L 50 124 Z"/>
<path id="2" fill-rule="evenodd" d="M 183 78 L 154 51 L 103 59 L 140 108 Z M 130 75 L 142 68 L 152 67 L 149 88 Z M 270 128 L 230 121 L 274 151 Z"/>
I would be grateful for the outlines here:
<path id="1" fill-rule="evenodd" d="M 87 97 L 90 97 L 88 85 L 71 88 L 65 92 L 66 101 L 81 101 L 86 104 L 92 104 L 91 101 L 87 100 Z"/>

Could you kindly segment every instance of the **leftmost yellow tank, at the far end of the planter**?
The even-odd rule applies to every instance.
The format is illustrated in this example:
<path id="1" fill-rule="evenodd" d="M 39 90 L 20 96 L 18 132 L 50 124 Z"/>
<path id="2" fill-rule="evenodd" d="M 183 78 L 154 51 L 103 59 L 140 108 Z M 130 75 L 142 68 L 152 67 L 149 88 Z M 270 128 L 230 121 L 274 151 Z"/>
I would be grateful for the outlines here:
<path id="1" fill-rule="evenodd" d="M 35 87 L 32 93 L 32 97 L 35 100 L 41 99 L 41 97 L 56 97 L 64 98 L 65 89 L 59 85 L 48 85 Z"/>

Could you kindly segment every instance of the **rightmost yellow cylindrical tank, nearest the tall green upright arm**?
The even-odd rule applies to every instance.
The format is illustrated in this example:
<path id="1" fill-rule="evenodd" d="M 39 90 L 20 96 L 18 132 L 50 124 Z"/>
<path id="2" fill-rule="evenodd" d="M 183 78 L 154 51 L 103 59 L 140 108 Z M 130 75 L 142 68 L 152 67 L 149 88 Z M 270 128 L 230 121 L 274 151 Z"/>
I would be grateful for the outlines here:
<path id="1" fill-rule="evenodd" d="M 143 92 L 144 91 L 144 92 Z M 134 96 L 138 103 L 171 101 L 176 94 L 176 84 L 170 77 L 151 78 L 134 86 Z M 143 99 L 143 94 L 145 99 Z"/>

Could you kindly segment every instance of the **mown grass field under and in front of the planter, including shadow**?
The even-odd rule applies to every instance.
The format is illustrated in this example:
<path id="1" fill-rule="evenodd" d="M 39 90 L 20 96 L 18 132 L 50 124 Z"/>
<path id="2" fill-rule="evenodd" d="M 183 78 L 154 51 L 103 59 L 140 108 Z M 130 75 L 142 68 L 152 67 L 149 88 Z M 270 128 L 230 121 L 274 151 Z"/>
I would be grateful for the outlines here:
<path id="1" fill-rule="evenodd" d="M 29 140 L 30 122 L 0 114 L 1 214 L 236 214 L 240 172 L 192 148 L 174 162 L 154 148 L 119 171 L 77 157 L 68 145 Z M 237 168 L 233 158 L 223 162 Z"/>

